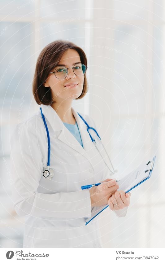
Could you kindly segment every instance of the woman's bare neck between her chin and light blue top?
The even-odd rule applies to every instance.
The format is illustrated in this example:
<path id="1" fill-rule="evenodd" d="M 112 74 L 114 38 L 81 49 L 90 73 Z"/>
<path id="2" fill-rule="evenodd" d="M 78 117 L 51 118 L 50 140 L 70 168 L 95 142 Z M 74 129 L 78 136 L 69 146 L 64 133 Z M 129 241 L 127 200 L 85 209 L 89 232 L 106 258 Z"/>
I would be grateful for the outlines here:
<path id="1" fill-rule="evenodd" d="M 63 102 L 56 102 L 51 104 L 51 107 L 56 111 L 56 113 L 59 115 L 61 121 L 69 123 L 69 124 L 75 124 L 76 120 L 72 113 L 72 99 L 67 99 Z"/>

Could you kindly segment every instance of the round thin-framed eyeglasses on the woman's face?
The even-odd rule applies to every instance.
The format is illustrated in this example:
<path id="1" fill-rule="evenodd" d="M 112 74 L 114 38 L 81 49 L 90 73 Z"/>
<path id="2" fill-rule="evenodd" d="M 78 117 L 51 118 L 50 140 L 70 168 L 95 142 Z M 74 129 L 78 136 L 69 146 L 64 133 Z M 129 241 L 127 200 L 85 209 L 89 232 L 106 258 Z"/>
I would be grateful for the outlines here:
<path id="1" fill-rule="evenodd" d="M 70 67 L 73 69 L 73 72 L 75 73 L 76 76 L 82 76 L 85 74 L 86 69 L 88 67 L 86 67 L 84 64 L 81 63 L 77 63 L 74 65 L 74 67 Z M 54 72 L 49 72 L 50 73 L 54 73 L 55 77 L 58 79 L 65 79 L 68 75 L 68 68 L 66 67 L 57 67 Z"/>

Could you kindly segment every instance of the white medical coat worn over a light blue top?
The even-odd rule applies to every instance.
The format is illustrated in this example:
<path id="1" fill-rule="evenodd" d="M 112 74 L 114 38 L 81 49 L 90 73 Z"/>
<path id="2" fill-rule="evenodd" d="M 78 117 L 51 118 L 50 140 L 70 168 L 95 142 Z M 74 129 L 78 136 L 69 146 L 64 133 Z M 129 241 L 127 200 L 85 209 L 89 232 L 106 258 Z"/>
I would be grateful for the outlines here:
<path id="1" fill-rule="evenodd" d="M 25 216 L 23 247 L 102 247 L 97 217 L 85 226 L 102 207 L 91 209 L 89 190 L 81 190 L 81 186 L 110 178 L 110 172 L 73 107 L 84 148 L 51 106 L 41 107 L 50 133 L 51 180 L 42 175 L 47 167 L 48 141 L 40 109 L 18 124 L 11 137 L 12 198 L 15 211 Z M 97 129 L 88 115 L 80 114 Z M 115 213 L 125 216 L 126 212 L 124 208 Z"/>

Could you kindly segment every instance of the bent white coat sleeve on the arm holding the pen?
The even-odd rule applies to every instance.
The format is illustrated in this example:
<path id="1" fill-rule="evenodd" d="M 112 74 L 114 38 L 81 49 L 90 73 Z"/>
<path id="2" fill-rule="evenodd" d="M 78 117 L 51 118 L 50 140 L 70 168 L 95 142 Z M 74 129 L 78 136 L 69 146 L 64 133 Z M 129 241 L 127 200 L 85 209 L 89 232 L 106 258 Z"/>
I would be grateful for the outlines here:
<path id="1" fill-rule="evenodd" d="M 41 137 L 34 130 L 33 125 L 25 122 L 17 125 L 11 136 L 12 199 L 16 213 L 35 217 L 90 217 L 88 190 L 55 194 L 37 192 L 43 156 L 40 147 L 42 142 L 38 139 Z"/>

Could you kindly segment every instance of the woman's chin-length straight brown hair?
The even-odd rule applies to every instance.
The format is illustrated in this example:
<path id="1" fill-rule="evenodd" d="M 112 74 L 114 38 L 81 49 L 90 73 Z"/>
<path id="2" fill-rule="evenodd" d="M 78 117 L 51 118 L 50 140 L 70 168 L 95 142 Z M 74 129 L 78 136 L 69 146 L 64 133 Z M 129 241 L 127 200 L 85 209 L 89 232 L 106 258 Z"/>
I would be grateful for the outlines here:
<path id="1" fill-rule="evenodd" d="M 52 100 L 51 89 L 43 85 L 48 73 L 59 63 L 64 52 L 69 49 L 75 49 L 79 55 L 81 63 L 87 67 L 87 58 L 85 52 L 74 43 L 66 40 L 56 40 L 45 46 L 38 56 L 36 69 L 33 77 L 33 95 L 35 101 L 41 105 L 49 105 Z M 86 72 L 84 74 L 84 85 L 81 95 L 76 99 L 81 99 L 88 91 Z M 55 101 L 51 102 L 55 103 Z"/>

